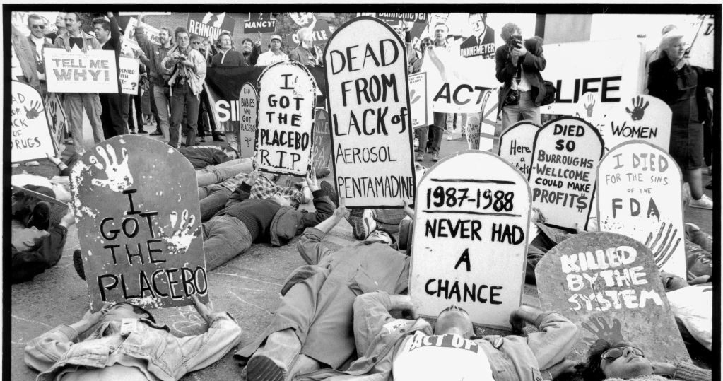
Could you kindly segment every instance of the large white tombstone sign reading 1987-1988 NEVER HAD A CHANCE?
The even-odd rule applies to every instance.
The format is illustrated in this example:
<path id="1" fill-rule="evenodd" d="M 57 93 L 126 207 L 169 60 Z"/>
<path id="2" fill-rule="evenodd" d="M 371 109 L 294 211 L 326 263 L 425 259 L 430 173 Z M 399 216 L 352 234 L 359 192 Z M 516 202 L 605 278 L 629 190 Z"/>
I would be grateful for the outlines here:
<path id="1" fill-rule="evenodd" d="M 437 317 L 456 304 L 472 322 L 510 328 L 522 298 L 530 188 L 493 153 L 442 159 L 419 181 L 409 294 Z"/>

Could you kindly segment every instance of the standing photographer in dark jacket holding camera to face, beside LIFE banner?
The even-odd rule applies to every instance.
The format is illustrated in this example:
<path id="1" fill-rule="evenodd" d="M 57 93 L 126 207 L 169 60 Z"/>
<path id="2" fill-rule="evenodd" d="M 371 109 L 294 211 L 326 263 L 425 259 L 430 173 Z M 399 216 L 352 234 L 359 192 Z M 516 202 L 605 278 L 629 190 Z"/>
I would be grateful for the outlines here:
<path id="1" fill-rule="evenodd" d="M 518 121 L 540 124 L 540 103 L 545 95 L 542 75 L 547 61 L 542 55 L 542 41 L 522 39 L 522 30 L 512 22 L 500 33 L 505 45 L 495 51 L 497 80 L 500 90 L 497 114 L 502 111 L 502 130 Z"/>

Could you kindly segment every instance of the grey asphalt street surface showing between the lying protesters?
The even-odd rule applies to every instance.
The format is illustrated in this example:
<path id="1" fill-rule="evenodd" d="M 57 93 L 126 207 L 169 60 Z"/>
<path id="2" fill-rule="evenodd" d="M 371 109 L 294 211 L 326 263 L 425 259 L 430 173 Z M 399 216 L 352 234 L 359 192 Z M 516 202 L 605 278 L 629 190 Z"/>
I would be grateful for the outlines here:
<path id="1" fill-rule="evenodd" d="M 442 157 L 466 149 L 461 137 L 442 142 Z M 223 144 L 223 143 L 221 143 Z M 69 146 L 72 149 L 72 146 Z M 68 152 L 65 156 L 69 155 Z M 13 168 L 12 174 L 22 171 L 51 177 L 56 169 L 47 160 L 41 166 Z M 429 158 L 425 166 L 432 163 Z M 707 183 L 709 177 L 703 181 Z M 707 192 L 712 196 L 711 192 Z M 703 231 L 712 231 L 712 213 L 709 210 L 685 210 L 687 221 L 701 226 Z M 325 239 L 330 248 L 338 248 L 353 240 L 351 226 L 343 221 Z M 299 265 L 304 265 L 296 252 L 297 239 L 285 247 L 270 247 L 268 244 L 254 245 L 243 255 L 210 272 L 209 290 L 217 310 L 226 310 L 236 317 L 244 329 L 241 344 L 249 343 L 260 334 L 281 300 L 279 291 L 286 275 Z M 87 288 L 85 281 L 77 277 L 72 266 L 72 251 L 78 247 L 77 230 L 69 229 L 67 244 L 59 264 L 35 277 L 30 283 L 12 286 L 12 354 L 13 380 L 34 380 L 36 372 L 25 366 L 22 349 L 30 339 L 54 328 L 61 323 L 72 323 L 80 319 L 87 309 Z M 527 286 L 523 296 L 526 304 L 537 304 L 536 289 Z M 176 335 L 201 333 L 205 323 L 192 307 L 154 310 L 156 319 L 166 322 Z M 490 330 L 485 331 L 491 333 Z M 236 379 L 241 369 L 231 354 L 211 367 L 184 377 L 183 380 L 231 380 Z"/>

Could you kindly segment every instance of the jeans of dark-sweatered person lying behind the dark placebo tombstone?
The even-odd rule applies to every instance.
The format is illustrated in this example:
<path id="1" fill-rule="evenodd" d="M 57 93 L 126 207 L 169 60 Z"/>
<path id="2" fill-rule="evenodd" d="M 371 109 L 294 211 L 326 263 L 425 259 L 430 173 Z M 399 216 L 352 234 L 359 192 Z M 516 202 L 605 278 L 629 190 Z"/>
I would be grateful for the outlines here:
<path id="1" fill-rule="evenodd" d="M 217 215 L 203 224 L 203 250 L 208 271 L 234 259 L 251 244 L 249 229 L 234 216 Z"/>

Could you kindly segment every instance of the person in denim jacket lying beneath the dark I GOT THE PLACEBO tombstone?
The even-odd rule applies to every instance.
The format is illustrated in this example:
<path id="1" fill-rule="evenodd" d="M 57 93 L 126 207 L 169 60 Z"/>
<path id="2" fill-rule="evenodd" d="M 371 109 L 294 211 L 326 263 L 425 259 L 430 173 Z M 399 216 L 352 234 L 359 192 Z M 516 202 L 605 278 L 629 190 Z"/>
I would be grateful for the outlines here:
<path id="1" fill-rule="evenodd" d="M 230 314 L 215 312 L 196 295 L 193 301 L 208 325 L 200 335 L 176 337 L 150 312 L 121 302 L 34 338 L 25 346 L 25 364 L 41 372 L 38 380 L 179 380 L 218 361 L 241 340 Z M 86 332 L 85 340 L 75 342 Z"/>

